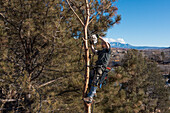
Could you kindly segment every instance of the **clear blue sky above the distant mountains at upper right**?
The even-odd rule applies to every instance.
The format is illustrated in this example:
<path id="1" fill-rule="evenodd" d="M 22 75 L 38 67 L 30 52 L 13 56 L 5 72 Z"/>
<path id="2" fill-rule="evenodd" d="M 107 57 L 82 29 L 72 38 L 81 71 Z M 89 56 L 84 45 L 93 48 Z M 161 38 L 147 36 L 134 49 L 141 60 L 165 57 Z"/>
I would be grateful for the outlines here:
<path id="1" fill-rule="evenodd" d="M 118 0 L 122 20 L 107 31 L 110 40 L 137 46 L 170 46 L 170 0 Z"/>

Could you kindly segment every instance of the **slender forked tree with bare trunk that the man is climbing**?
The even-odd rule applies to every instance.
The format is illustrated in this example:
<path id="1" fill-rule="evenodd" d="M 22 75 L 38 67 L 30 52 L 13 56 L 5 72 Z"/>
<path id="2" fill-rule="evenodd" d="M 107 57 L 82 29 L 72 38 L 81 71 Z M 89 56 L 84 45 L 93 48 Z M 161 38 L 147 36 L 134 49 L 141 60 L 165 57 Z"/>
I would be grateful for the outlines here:
<path id="1" fill-rule="evenodd" d="M 87 29 L 93 29 L 95 32 L 100 32 L 103 36 L 103 32 L 105 32 L 108 28 L 113 26 L 114 24 L 119 23 L 121 20 L 121 16 L 116 14 L 118 8 L 114 5 L 115 0 L 66 0 L 68 6 L 77 17 L 80 22 L 83 30 L 76 31 L 78 34 L 83 33 L 84 37 L 84 60 L 85 60 L 85 82 L 83 89 L 83 99 L 87 95 L 88 84 L 89 84 L 89 74 L 90 74 L 90 59 L 89 59 L 89 46 L 88 46 L 88 34 Z M 112 18 L 115 17 L 115 20 Z M 98 26 L 100 29 L 95 29 L 95 26 Z M 80 27 L 79 27 L 80 28 Z M 107 46 L 106 46 L 107 47 Z M 99 52 L 97 52 L 99 53 Z M 84 102 L 85 112 L 91 113 L 91 105 L 87 105 Z"/>

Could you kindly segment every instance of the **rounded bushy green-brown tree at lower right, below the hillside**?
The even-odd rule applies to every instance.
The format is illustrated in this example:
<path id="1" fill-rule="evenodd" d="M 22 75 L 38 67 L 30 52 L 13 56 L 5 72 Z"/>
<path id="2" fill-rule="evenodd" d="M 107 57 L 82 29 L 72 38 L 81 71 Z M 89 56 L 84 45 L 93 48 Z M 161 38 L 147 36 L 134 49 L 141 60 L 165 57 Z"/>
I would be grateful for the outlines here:
<path id="1" fill-rule="evenodd" d="M 108 84 L 98 90 L 94 112 L 168 112 L 170 90 L 164 85 L 155 63 L 137 50 L 128 50 L 122 66 L 110 72 Z"/>

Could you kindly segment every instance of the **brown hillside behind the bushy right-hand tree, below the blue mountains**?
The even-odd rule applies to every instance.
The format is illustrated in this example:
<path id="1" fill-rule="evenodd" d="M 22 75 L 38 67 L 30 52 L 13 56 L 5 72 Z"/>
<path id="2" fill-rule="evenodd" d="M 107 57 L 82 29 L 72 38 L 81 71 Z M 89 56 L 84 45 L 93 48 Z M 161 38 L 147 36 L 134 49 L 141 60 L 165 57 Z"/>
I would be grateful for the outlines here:
<path id="1" fill-rule="evenodd" d="M 117 43 L 118 46 L 120 43 Z M 128 44 L 125 44 L 124 47 L 128 47 Z M 112 48 L 112 57 L 109 63 L 110 66 L 120 65 L 121 60 L 124 58 L 124 55 L 127 53 L 128 49 L 126 48 Z M 139 50 L 143 57 L 146 57 L 152 61 L 157 62 L 158 66 L 161 68 L 162 73 L 170 73 L 170 48 L 166 49 L 144 49 Z"/>

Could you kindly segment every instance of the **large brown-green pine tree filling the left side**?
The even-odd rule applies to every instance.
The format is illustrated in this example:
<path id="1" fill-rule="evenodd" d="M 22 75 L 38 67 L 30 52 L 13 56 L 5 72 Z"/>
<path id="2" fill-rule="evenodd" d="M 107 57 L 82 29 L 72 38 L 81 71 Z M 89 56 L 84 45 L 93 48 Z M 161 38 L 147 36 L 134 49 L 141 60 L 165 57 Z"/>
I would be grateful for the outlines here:
<path id="1" fill-rule="evenodd" d="M 58 93 L 48 92 L 54 87 L 41 88 L 56 83 L 60 77 L 67 77 L 75 70 L 71 64 L 75 64 L 74 60 L 78 58 L 71 59 L 67 55 L 73 45 L 80 45 L 78 40 L 71 37 L 70 30 L 74 27 L 69 24 L 74 19 L 65 14 L 69 10 L 63 1 L 4 0 L 0 6 L 1 31 L 6 31 L 1 39 L 7 40 L 7 48 L 1 51 L 4 56 L 1 60 L 1 108 L 4 111 L 40 111 L 51 100 L 51 94 L 44 95 Z M 71 55 L 75 53 L 77 49 Z M 42 100 L 47 101 L 43 107 Z M 52 105 L 55 106 L 57 102 L 53 101 Z"/>

